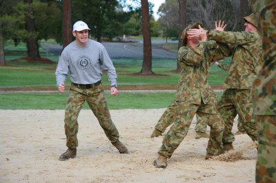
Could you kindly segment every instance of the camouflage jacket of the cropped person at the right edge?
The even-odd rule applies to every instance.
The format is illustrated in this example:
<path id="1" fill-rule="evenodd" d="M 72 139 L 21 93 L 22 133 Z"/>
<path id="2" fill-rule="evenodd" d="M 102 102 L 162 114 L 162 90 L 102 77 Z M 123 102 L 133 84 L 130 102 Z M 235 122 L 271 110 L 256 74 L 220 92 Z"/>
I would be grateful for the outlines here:
<path id="1" fill-rule="evenodd" d="M 251 0 L 258 20 L 259 32 L 264 48 L 264 65 L 254 81 L 253 105 L 255 115 L 276 115 L 276 1 Z M 275 124 L 275 123 L 274 123 Z M 266 127 L 267 133 L 273 129 Z M 269 133 L 268 136 L 272 136 Z"/>

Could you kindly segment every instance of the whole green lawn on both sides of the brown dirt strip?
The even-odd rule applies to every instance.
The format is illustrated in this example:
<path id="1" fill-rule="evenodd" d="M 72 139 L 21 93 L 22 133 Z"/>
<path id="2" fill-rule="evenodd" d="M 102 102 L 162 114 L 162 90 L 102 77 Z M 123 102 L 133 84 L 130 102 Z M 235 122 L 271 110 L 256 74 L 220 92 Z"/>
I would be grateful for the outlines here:
<path id="1" fill-rule="evenodd" d="M 55 43 L 55 41 L 47 41 Z M 170 45 L 172 46 L 172 45 Z M 55 68 L 58 57 L 46 53 L 41 49 L 40 54 L 55 61 L 49 63 L 28 63 L 21 59 L 26 56 L 26 45 L 23 43 L 14 47 L 11 43 L 5 45 L 6 66 L 0 66 L 0 91 L 6 90 L 56 90 Z M 17 58 L 17 59 L 15 59 Z M 229 58 L 226 59 L 229 62 Z M 177 67 L 175 60 L 152 60 L 152 71 L 155 75 L 141 76 L 142 59 L 114 58 L 112 59 L 118 76 L 120 89 L 176 89 L 180 73 L 173 72 Z M 224 83 L 226 72 L 216 65 L 210 67 L 209 84 L 213 87 Z M 70 85 L 70 79 L 66 86 Z M 103 86 L 109 88 L 106 74 L 103 74 Z M 50 88 L 50 89 L 49 89 Z M 174 97 L 174 93 L 128 94 L 117 97 L 110 96 L 106 89 L 106 97 L 110 109 L 151 109 L 167 107 Z M 30 93 L 30 94 L 0 94 L 0 109 L 64 109 L 68 94 Z M 84 109 L 88 109 L 84 105 Z"/>

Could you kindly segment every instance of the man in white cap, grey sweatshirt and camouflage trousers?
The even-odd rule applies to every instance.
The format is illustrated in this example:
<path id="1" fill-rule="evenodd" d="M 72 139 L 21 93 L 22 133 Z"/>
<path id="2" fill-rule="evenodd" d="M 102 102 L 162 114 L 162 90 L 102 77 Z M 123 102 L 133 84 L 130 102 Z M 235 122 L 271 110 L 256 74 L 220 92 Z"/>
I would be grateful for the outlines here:
<path id="1" fill-rule="evenodd" d="M 64 92 L 68 72 L 72 82 L 64 119 L 68 150 L 59 156 L 61 161 L 75 158 L 77 155 L 79 129 L 77 118 L 85 101 L 99 120 L 110 142 L 120 153 L 128 153 L 128 149 L 119 141 L 119 133 L 111 120 L 101 85 L 102 69 L 104 69 L 110 80 L 110 92 L 113 96 L 117 96 L 115 67 L 103 45 L 88 39 L 88 30 L 90 30 L 88 25 L 83 21 L 74 24 L 72 34 L 76 40 L 64 48 L 55 72 L 59 92 Z"/>

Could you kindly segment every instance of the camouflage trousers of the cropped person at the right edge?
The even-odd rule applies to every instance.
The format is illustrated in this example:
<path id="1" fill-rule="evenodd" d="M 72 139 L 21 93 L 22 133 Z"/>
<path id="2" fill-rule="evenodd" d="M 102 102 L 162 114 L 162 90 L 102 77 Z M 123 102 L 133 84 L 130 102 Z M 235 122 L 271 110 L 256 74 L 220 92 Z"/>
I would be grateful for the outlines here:
<path id="1" fill-rule="evenodd" d="M 255 116 L 259 133 L 256 182 L 276 182 L 276 119 Z"/>

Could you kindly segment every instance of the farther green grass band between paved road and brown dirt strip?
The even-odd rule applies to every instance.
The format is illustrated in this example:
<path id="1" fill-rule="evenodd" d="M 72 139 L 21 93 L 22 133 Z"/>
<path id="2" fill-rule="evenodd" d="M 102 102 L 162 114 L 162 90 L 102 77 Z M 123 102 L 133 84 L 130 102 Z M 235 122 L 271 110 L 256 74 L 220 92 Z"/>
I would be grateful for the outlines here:
<path id="1" fill-rule="evenodd" d="M 117 69 L 118 85 L 176 85 L 180 74 L 171 72 L 176 68 L 176 61 L 152 60 L 152 71 L 155 76 L 133 75 L 141 70 L 141 59 L 113 59 Z M 55 86 L 55 68 L 57 64 L 30 64 L 25 61 L 9 62 L 0 66 L 0 88 L 22 86 Z M 129 66 L 132 65 L 132 66 Z M 209 84 L 222 85 L 226 72 L 216 65 L 210 67 Z M 66 85 L 69 85 L 68 79 Z M 106 74 L 103 74 L 103 85 L 109 85 Z"/>

